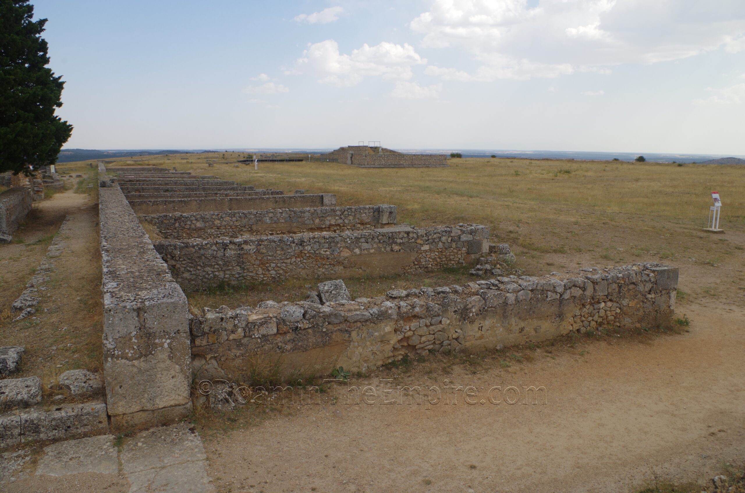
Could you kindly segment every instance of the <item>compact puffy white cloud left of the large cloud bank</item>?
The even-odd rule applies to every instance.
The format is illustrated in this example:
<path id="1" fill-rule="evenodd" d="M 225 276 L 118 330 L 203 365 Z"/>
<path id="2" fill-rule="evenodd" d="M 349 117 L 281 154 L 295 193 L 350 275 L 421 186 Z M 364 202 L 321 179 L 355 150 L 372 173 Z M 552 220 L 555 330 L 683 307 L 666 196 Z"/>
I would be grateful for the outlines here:
<path id="1" fill-rule="evenodd" d="M 355 86 L 364 77 L 383 77 L 386 80 L 408 80 L 411 67 L 427 63 L 411 45 L 381 42 L 362 45 L 351 54 L 341 54 L 333 39 L 309 45 L 294 69 L 287 74 L 311 74 L 321 83 L 338 87 Z"/>

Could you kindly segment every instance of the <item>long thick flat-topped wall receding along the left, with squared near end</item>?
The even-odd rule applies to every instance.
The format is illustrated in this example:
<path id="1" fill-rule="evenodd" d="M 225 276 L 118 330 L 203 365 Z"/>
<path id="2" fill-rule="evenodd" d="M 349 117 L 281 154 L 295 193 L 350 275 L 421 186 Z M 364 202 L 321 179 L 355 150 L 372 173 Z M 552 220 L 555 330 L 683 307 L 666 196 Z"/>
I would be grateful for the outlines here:
<path id="1" fill-rule="evenodd" d="M 178 419 L 190 410 L 186 296 L 118 186 L 99 188 L 98 203 L 112 427 Z"/>

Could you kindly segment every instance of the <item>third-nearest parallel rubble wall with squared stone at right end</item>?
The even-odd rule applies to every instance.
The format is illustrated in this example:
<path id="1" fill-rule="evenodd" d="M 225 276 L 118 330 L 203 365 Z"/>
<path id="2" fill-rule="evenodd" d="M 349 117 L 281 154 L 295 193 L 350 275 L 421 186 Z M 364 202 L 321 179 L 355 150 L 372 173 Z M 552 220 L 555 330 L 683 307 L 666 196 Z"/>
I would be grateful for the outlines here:
<path id="1" fill-rule="evenodd" d="M 207 240 L 245 235 L 385 228 L 396 224 L 396 206 L 149 214 L 141 219 L 154 226 L 166 240 Z"/>

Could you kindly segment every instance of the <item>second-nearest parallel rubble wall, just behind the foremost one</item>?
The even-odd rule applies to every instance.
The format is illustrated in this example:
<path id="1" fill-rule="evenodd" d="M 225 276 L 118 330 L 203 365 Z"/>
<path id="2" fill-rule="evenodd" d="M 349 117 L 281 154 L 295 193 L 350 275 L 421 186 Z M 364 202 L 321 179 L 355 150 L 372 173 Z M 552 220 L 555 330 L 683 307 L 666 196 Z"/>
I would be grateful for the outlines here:
<path id="1" fill-rule="evenodd" d="M 472 224 L 342 233 L 157 241 L 187 290 L 290 278 L 382 276 L 455 267 L 489 251 L 489 228 Z"/>

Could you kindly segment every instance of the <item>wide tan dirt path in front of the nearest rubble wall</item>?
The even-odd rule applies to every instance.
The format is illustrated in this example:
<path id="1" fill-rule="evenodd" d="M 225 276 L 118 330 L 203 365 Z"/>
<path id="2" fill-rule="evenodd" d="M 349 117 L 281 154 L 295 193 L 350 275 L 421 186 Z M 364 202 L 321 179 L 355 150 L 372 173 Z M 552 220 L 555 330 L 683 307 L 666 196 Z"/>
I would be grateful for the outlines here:
<path id="1" fill-rule="evenodd" d="M 415 371 L 394 384 L 448 378 L 477 387 L 479 399 L 482 388 L 544 386 L 546 405 L 294 406 L 207 439 L 209 475 L 218 491 L 267 493 L 628 492 L 653 473 L 711 477 L 745 458 L 745 314 L 685 311 L 694 320 L 685 334 L 595 341 L 556 360 L 539 350 L 478 375 Z"/>

